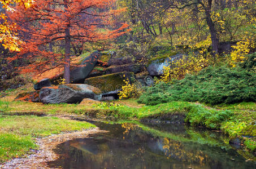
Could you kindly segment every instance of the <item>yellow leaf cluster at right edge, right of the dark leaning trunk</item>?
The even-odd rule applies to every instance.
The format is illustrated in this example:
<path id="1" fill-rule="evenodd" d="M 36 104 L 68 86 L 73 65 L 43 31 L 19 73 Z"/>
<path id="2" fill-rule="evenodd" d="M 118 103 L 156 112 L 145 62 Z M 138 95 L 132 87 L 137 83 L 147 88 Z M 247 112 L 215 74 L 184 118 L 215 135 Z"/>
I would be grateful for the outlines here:
<path id="1" fill-rule="evenodd" d="M 250 39 L 245 39 L 236 43 L 235 46 L 232 46 L 234 49 L 231 52 L 231 60 L 229 64 L 232 67 L 236 66 L 236 63 L 242 63 L 245 59 L 245 55 L 248 55 L 251 48 L 255 48 L 255 41 Z"/>

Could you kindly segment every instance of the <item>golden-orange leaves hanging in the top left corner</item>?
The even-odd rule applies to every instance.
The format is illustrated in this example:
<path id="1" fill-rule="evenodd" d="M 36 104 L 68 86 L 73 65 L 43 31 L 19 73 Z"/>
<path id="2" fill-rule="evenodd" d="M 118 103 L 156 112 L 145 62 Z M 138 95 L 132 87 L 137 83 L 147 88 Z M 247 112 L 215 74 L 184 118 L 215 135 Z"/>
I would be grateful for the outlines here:
<path id="1" fill-rule="evenodd" d="M 26 9 L 31 7 L 33 2 L 33 0 L 0 0 L 2 7 L 10 12 L 15 12 L 10 4 L 18 3 Z M 10 51 L 20 51 L 19 46 L 23 42 L 17 37 L 16 24 L 8 23 L 7 16 L 3 13 L 0 14 L 0 19 L 3 20 L 0 24 L 0 43 L 3 43 L 3 47 L 8 48 Z"/>

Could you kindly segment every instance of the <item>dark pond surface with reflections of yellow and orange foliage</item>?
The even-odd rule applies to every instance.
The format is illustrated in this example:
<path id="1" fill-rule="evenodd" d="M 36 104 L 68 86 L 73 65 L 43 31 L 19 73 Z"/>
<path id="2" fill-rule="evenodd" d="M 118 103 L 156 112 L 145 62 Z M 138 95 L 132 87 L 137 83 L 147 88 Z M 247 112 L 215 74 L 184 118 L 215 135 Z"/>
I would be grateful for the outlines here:
<path id="1" fill-rule="evenodd" d="M 110 130 L 109 133 L 60 144 L 56 151 L 61 158 L 49 163 L 50 166 L 121 169 L 127 167 L 134 169 L 188 168 L 189 166 L 193 168 L 250 168 L 249 164 L 246 166 L 245 162 L 242 162 L 244 159 L 233 157 L 235 156 L 232 154 L 235 152 L 233 150 L 222 150 L 215 146 L 183 143 L 183 141 L 167 137 L 152 136 L 132 123 L 117 126 L 112 126 L 114 132 Z M 185 135 L 185 133 L 180 135 Z M 231 160 L 230 155 L 235 158 L 236 162 Z"/>

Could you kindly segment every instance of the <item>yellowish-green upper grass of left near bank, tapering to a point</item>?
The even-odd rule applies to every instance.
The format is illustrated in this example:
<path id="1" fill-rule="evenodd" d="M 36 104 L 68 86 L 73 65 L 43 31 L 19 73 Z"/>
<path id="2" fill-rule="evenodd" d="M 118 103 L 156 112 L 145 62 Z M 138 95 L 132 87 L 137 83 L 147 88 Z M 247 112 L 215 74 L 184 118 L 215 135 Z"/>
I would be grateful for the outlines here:
<path id="1" fill-rule="evenodd" d="M 16 135 L 44 137 L 65 131 L 95 127 L 93 124 L 58 117 L 37 117 L 34 115 L 4 116 L 0 118 L 1 131 Z"/>

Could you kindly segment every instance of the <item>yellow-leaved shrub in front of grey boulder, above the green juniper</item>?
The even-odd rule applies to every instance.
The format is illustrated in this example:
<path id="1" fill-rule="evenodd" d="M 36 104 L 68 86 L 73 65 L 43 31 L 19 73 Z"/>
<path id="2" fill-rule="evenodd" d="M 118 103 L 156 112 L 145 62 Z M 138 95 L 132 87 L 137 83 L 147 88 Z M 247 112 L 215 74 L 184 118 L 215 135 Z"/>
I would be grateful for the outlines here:
<path id="1" fill-rule="evenodd" d="M 209 59 L 205 59 L 203 55 L 183 57 L 180 60 L 173 61 L 168 66 L 164 66 L 163 75 L 158 82 L 168 83 L 173 79 L 182 79 L 186 74 L 199 72 L 209 65 Z"/>

